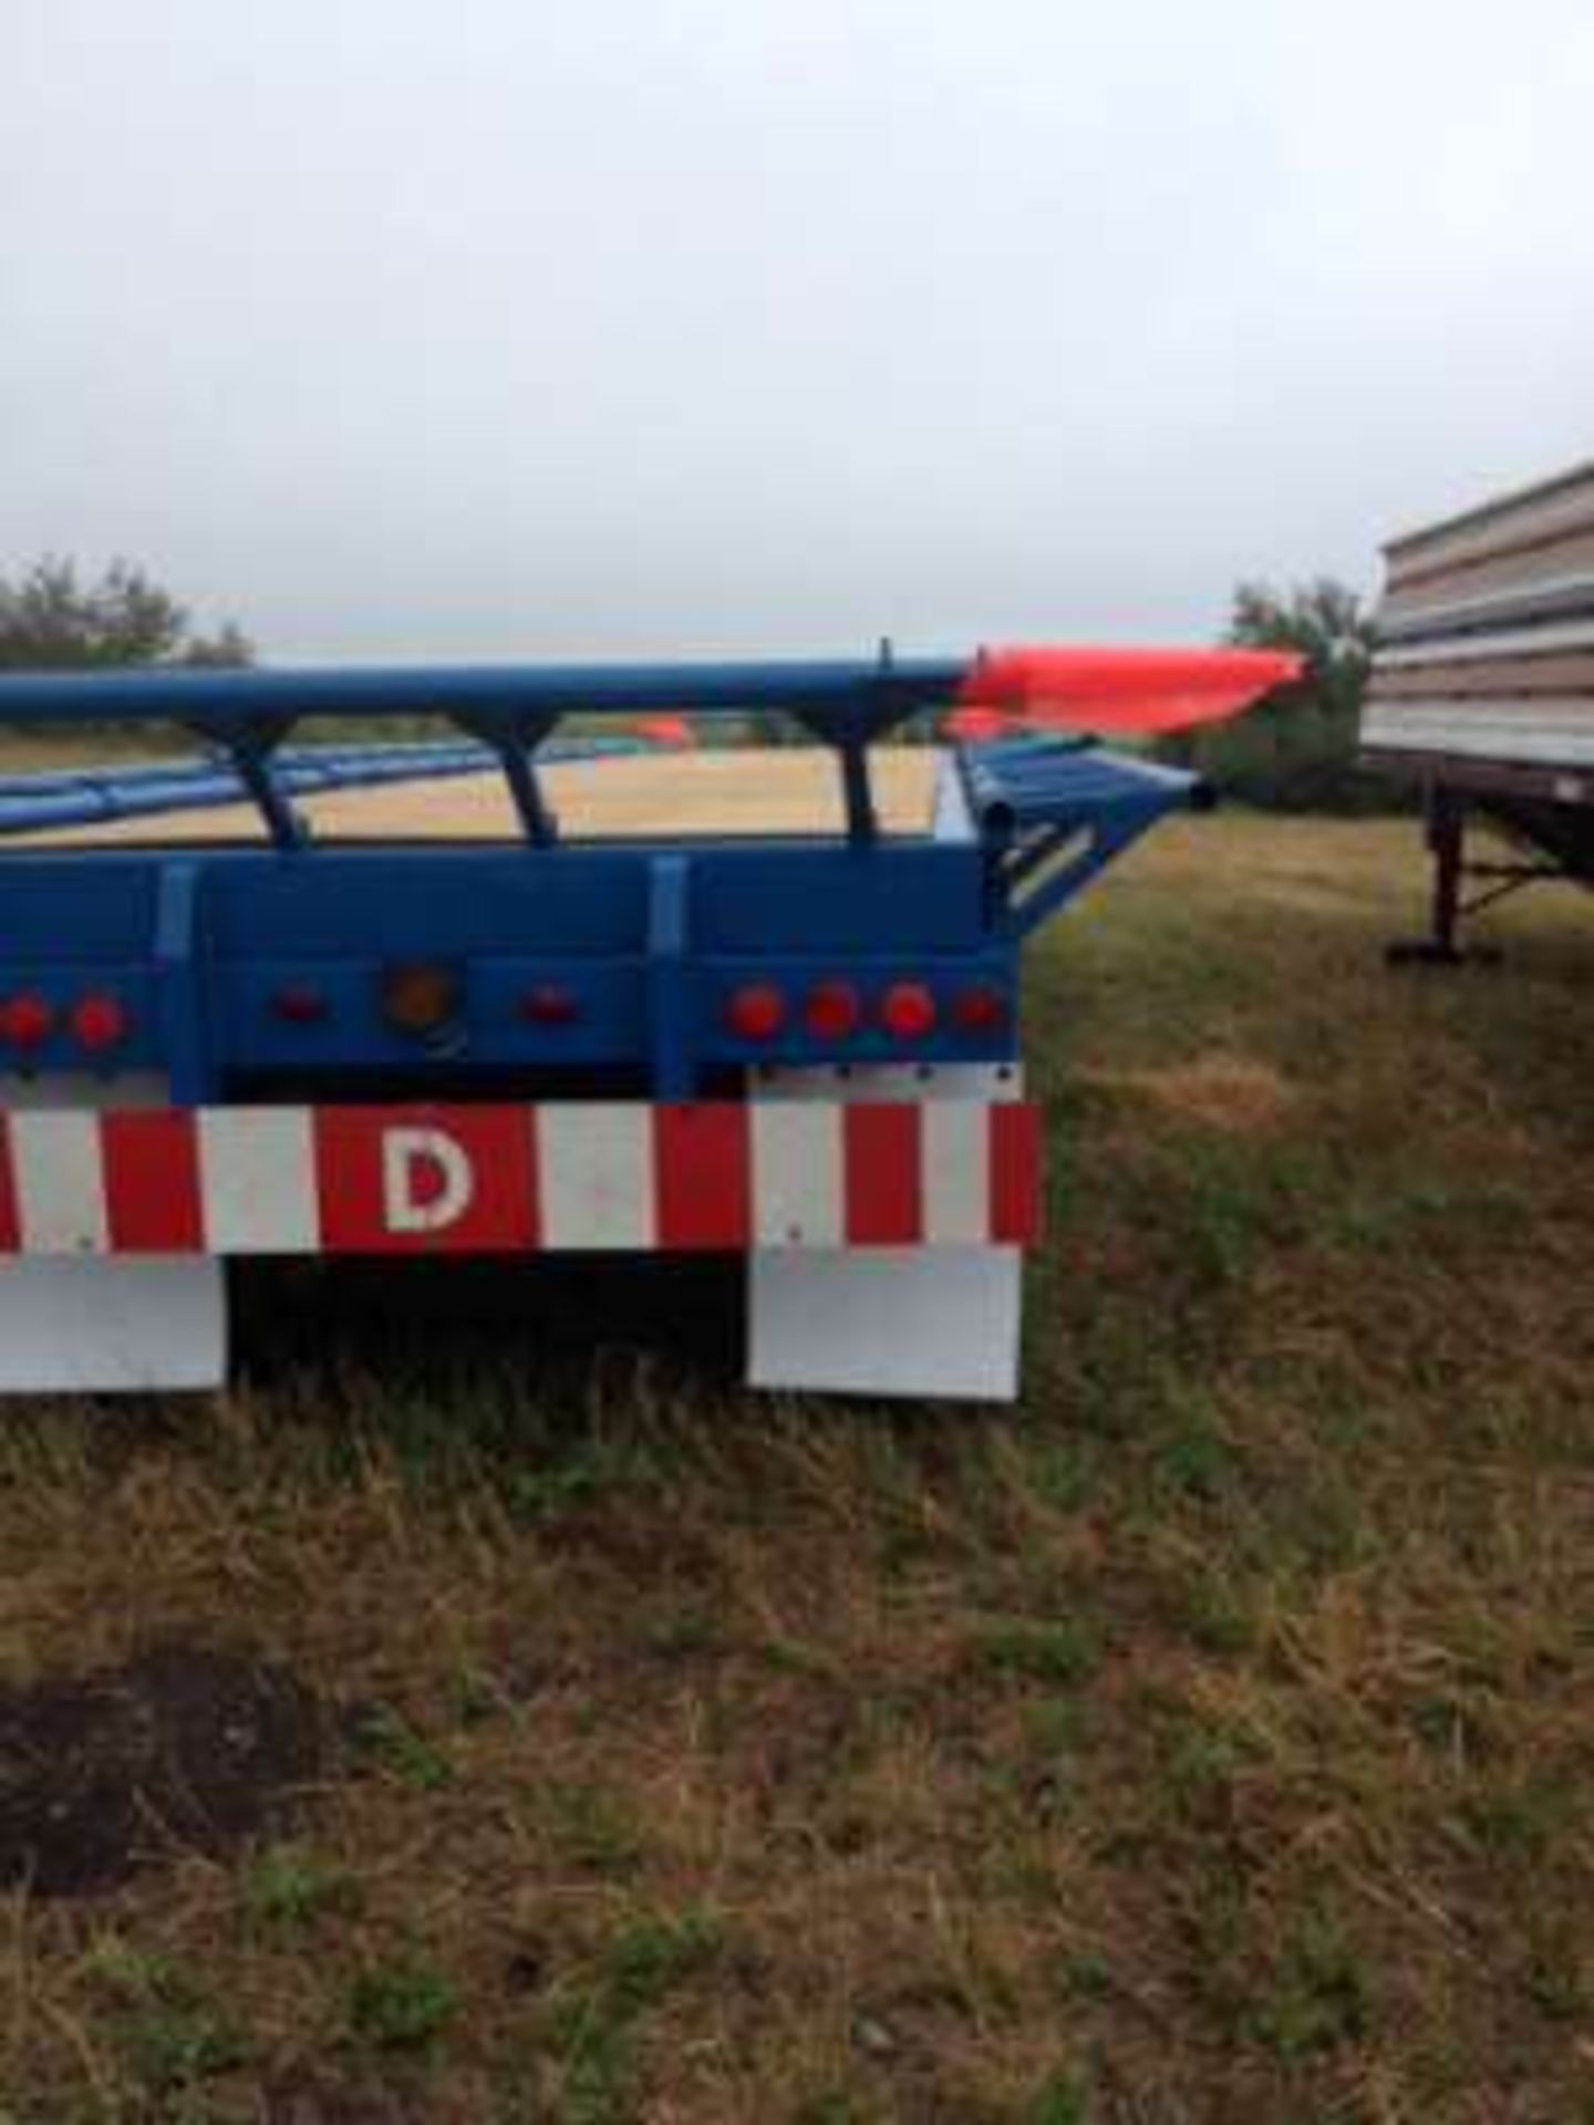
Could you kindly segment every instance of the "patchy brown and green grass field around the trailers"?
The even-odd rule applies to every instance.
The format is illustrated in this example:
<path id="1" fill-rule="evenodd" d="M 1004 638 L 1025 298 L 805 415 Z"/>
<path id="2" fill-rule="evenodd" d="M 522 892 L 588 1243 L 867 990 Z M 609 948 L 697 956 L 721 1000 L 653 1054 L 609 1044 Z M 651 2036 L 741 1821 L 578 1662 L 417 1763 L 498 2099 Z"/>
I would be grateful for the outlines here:
<path id="1" fill-rule="evenodd" d="M 1420 892 L 1192 822 L 1041 946 L 1014 1413 L 623 1269 L 6 1411 L 0 2116 L 1594 2121 L 1594 910 Z"/>

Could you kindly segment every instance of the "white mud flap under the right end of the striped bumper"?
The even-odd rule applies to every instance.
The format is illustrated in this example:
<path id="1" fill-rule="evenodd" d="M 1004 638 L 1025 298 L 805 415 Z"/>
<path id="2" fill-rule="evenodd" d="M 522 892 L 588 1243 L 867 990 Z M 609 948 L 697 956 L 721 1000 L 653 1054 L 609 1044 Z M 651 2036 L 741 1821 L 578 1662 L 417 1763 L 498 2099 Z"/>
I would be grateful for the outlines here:
<path id="1" fill-rule="evenodd" d="M 778 1071 L 759 1099 L 1018 1099 L 1018 1069 Z M 748 1386 L 816 1394 L 1018 1394 L 1018 1247 L 759 1247 L 748 1256 Z"/>

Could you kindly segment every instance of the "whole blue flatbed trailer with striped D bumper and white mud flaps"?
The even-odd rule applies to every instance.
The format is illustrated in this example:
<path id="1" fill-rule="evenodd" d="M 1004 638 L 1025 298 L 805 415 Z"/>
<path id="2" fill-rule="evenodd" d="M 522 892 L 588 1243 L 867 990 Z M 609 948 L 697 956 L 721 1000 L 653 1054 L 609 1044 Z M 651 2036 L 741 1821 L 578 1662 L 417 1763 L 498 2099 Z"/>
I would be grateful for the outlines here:
<path id="1" fill-rule="evenodd" d="M 720 1250 L 761 1386 L 1005 1396 L 1039 1230 L 1020 950 L 1192 776 L 1014 733 L 882 833 L 871 746 L 969 661 L 0 680 L 0 727 L 181 767 L 0 778 L 0 1390 L 210 1386 L 236 1254 Z M 561 835 L 582 718 L 791 718 L 840 831 Z M 444 718 L 293 746 L 306 716 Z M 321 842 L 317 790 L 493 767 L 495 842 Z M 689 763 L 682 763 L 689 771 Z M 244 797 L 253 842 L 183 839 Z M 149 820 L 100 846 L 64 829 Z M 142 824 L 136 829 L 142 833 Z"/>

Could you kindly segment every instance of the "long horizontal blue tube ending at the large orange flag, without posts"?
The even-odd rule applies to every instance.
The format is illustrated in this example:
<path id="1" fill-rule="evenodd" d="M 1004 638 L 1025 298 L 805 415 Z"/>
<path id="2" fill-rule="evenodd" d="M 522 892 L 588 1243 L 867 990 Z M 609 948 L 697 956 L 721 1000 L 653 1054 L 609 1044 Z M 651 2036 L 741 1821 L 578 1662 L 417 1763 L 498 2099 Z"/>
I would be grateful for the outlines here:
<path id="1" fill-rule="evenodd" d="M 0 722 L 183 722 L 225 733 L 298 716 L 472 716 L 786 710 L 869 731 L 956 699 L 967 657 L 897 663 L 461 665 L 400 669 L 43 672 L 0 678 Z"/>

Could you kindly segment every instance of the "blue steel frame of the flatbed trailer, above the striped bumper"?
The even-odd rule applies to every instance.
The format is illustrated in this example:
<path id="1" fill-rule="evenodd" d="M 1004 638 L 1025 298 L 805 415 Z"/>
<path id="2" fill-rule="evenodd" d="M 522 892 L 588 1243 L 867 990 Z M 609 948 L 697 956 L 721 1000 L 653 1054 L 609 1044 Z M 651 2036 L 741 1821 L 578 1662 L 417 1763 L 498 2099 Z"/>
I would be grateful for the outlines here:
<path id="1" fill-rule="evenodd" d="M 867 744 L 956 697 L 967 665 L 691 667 L 533 674 L 159 674 L 0 680 L 0 722 L 176 720 L 225 746 L 268 820 L 272 846 L 0 850 L 0 999 L 36 994 L 55 1028 L 0 1067 L 81 1069 L 70 1005 L 111 992 L 128 1012 L 117 1069 L 153 1069 L 181 1105 L 274 1077 L 472 1082 L 646 1075 L 689 1099 L 710 1073 L 763 1062 L 1007 1062 L 1018 1043 L 1022 939 L 1165 812 L 1199 801 L 1192 776 L 1058 740 L 959 754 L 956 831 L 878 839 Z M 555 844 L 533 756 L 563 708 L 782 708 L 837 752 L 844 835 Z M 523 839 L 310 848 L 291 808 L 300 714 L 446 712 L 497 754 Z M 266 733 L 266 735 L 261 735 Z M 372 776 L 383 756 L 368 748 Z M 359 771 L 359 761 L 351 771 Z M 104 774 L 113 801 L 136 778 Z M 117 793 L 117 782 L 123 784 Z M 40 793 L 45 795 L 45 793 Z M 236 795 L 236 784 L 227 786 Z M 393 967 L 446 969 L 457 1009 L 425 1035 L 383 1012 Z M 859 1031 L 812 1033 L 801 999 L 850 982 Z M 935 1026 L 903 1041 L 880 1001 L 899 982 L 935 999 Z M 731 994 L 774 984 L 793 999 L 771 1039 L 737 1035 Z M 969 988 L 997 999 L 961 1024 Z M 557 1018 L 527 999 L 557 990 Z M 315 997 L 283 1014 L 285 994 Z"/>

